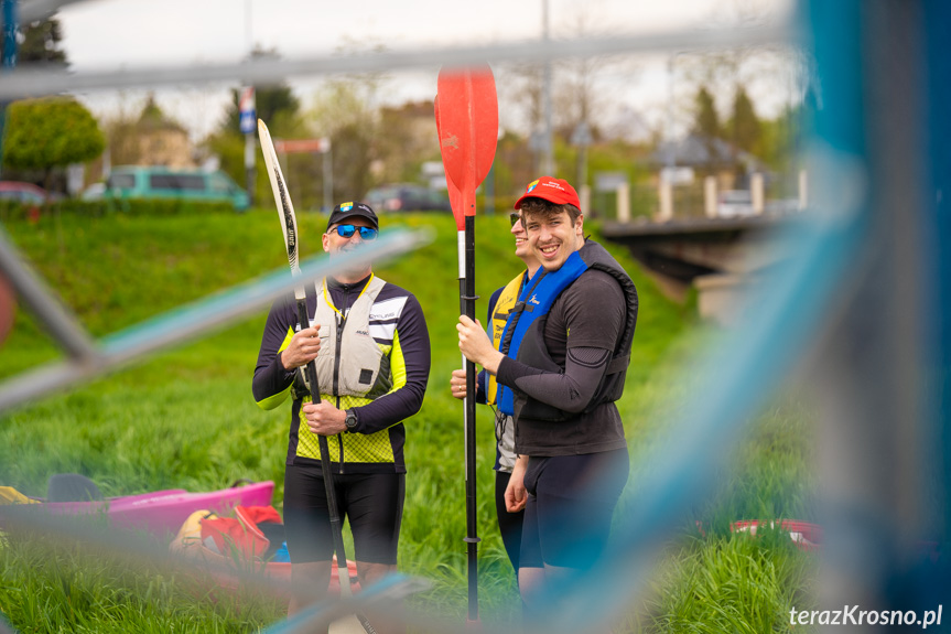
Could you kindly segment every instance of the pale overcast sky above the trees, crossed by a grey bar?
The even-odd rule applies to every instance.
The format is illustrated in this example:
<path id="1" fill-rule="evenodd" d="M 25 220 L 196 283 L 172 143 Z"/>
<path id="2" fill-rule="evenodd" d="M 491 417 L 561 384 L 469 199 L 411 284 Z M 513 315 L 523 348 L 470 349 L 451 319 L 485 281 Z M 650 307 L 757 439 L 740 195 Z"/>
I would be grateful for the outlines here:
<path id="1" fill-rule="evenodd" d="M 86 0 L 60 12 L 65 49 L 77 73 L 137 67 L 234 63 L 252 46 L 277 49 L 285 58 L 339 52 L 485 45 L 540 39 L 548 2 L 553 39 L 592 34 L 655 33 L 725 25 L 755 15 L 781 21 L 791 0 Z M 635 72 L 608 73 L 604 89 L 616 90 L 613 116 L 636 112 L 657 125 L 671 90 L 668 56 L 644 56 Z M 393 73 L 383 99 L 432 98 L 437 68 Z M 612 82 L 614 84 L 612 84 Z M 159 105 L 195 139 L 221 118 L 234 84 L 155 90 Z M 320 89 L 320 77 L 295 79 L 304 107 Z M 759 88 L 767 109 L 787 92 Z M 80 98 L 98 116 L 138 111 L 147 90 L 97 92 Z M 504 87 L 499 87 L 500 97 Z M 780 95 L 781 94 L 781 95 Z M 768 112 L 766 112 L 768 115 Z M 517 117 L 500 112 L 504 125 Z"/>

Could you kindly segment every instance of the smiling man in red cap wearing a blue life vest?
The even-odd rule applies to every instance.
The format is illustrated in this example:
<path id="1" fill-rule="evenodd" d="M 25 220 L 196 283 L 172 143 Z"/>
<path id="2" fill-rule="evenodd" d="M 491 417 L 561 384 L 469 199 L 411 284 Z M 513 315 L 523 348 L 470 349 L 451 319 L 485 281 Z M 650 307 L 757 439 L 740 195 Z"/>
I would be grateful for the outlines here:
<path id="1" fill-rule="evenodd" d="M 584 238 L 577 193 L 533 181 L 515 204 L 536 275 L 506 322 L 502 354 L 479 323 L 460 318 L 460 348 L 515 396 L 518 461 L 506 491 L 525 507 L 519 589 L 529 609 L 559 574 L 603 552 L 629 471 L 615 401 L 624 390 L 637 323 L 637 290 L 622 266 Z"/>

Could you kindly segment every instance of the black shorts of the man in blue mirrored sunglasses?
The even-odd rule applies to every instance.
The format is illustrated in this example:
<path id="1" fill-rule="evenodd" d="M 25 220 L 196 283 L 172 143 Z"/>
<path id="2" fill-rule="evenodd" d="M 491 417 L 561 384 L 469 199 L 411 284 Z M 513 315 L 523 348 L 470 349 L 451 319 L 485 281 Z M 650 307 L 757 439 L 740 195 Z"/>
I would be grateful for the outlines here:
<path id="1" fill-rule="evenodd" d="M 406 497 L 404 473 L 334 475 L 337 509 L 354 534 L 357 561 L 395 566 Z M 334 552 L 320 466 L 284 470 L 284 529 L 291 562 L 328 561 Z"/>

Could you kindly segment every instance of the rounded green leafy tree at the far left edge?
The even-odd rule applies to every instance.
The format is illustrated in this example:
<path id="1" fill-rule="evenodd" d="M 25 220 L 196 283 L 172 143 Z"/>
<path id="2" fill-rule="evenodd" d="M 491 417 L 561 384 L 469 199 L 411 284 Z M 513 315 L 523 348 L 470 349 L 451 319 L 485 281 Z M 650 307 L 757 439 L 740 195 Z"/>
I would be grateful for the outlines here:
<path id="1" fill-rule="evenodd" d="M 15 101 L 8 116 L 3 164 L 42 170 L 46 186 L 54 168 L 91 161 L 106 147 L 96 119 L 69 97 Z"/>

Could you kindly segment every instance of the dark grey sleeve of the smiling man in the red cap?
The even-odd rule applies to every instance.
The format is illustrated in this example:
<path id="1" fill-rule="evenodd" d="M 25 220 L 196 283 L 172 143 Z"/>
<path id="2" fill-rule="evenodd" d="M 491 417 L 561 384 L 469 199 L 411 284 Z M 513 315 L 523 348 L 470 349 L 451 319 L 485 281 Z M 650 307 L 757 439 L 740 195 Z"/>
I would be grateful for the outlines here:
<path id="1" fill-rule="evenodd" d="M 625 301 L 620 286 L 606 273 L 573 283 L 552 307 L 568 329 L 564 373 L 550 373 L 508 356 L 498 368 L 498 382 L 530 397 L 579 412 L 591 402 L 610 363 L 624 327 Z M 553 315 L 550 315 L 550 320 Z"/>

